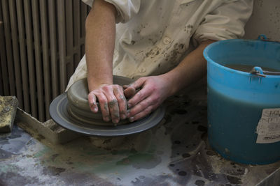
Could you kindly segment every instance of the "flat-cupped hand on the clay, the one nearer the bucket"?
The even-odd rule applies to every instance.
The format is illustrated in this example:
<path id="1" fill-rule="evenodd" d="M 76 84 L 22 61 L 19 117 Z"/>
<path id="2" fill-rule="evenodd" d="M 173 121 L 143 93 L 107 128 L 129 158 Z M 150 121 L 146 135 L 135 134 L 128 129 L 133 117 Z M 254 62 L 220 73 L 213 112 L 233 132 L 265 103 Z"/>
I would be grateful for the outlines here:
<path id="1" fill-rule="evenodd" d="M 141 77 L 130 84 L 130 86 L 126 86 L 132 87 L 135 90 L 140 89 L 140 91 L 127 102 L 128 109 L 130 110 L 127 114 L 129 120 L 131 122 L 137 121 L 157 109 L 170 95 L 170 86 L 172 85 L 169 84 L 166 77 L 162 75 Z"/>

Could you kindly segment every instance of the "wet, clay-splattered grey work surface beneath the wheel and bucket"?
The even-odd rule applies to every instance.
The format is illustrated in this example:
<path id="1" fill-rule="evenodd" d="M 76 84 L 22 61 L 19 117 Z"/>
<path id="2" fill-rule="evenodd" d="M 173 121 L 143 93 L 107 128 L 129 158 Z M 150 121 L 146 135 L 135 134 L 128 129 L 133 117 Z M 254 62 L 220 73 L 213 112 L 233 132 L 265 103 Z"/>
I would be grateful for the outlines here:
<path id="1" fill-rule="evenodd" d="M 238 164 L 209 147 L 205 89 L 169 98 L 160 125 L 116 146 L 55 144 L 15 125 L 0 138 L 0 185 L 280 185 L 280 162 Z"/>

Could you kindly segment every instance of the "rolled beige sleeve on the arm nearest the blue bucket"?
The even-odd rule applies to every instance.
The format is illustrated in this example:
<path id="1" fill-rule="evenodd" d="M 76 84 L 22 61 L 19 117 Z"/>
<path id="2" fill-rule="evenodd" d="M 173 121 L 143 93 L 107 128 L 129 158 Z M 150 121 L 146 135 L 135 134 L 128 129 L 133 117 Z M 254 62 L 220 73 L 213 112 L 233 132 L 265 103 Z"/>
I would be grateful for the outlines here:
<path id="1" fill-rule="evenodd" d="M 227 40 L 244 36 L 244 26 L 251 16 L 253 0 L 237 0 L 222 3 L 197 27 L 193 38 L 203 40 Z"/>

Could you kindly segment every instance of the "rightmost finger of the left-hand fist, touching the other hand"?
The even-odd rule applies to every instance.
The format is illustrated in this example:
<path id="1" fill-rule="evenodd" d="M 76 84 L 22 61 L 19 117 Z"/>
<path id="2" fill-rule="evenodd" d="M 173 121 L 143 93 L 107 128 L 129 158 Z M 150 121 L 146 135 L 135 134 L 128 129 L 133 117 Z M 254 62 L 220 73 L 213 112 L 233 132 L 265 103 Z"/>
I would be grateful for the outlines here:
<path id="1" fill-rule="evenodd" d="M 121 119 L 127 118 L 127 100 L 124 95 L 123 87 L 121 86 L 114 87 L 113 93 L 116 99 L 118 100 L 120 118 Z"/>

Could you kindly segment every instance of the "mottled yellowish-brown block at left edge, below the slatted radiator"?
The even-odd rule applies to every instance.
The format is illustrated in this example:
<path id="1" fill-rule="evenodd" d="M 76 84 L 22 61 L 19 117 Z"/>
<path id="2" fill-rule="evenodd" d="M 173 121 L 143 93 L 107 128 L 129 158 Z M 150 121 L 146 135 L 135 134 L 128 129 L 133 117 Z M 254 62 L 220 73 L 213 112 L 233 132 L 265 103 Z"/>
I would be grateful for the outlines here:
<path id="1" fill-rule="evenodd" d="M 17 112 L 18 100 L 15 96 L 0 95 L 0 132 L 11 132 Z"/>

